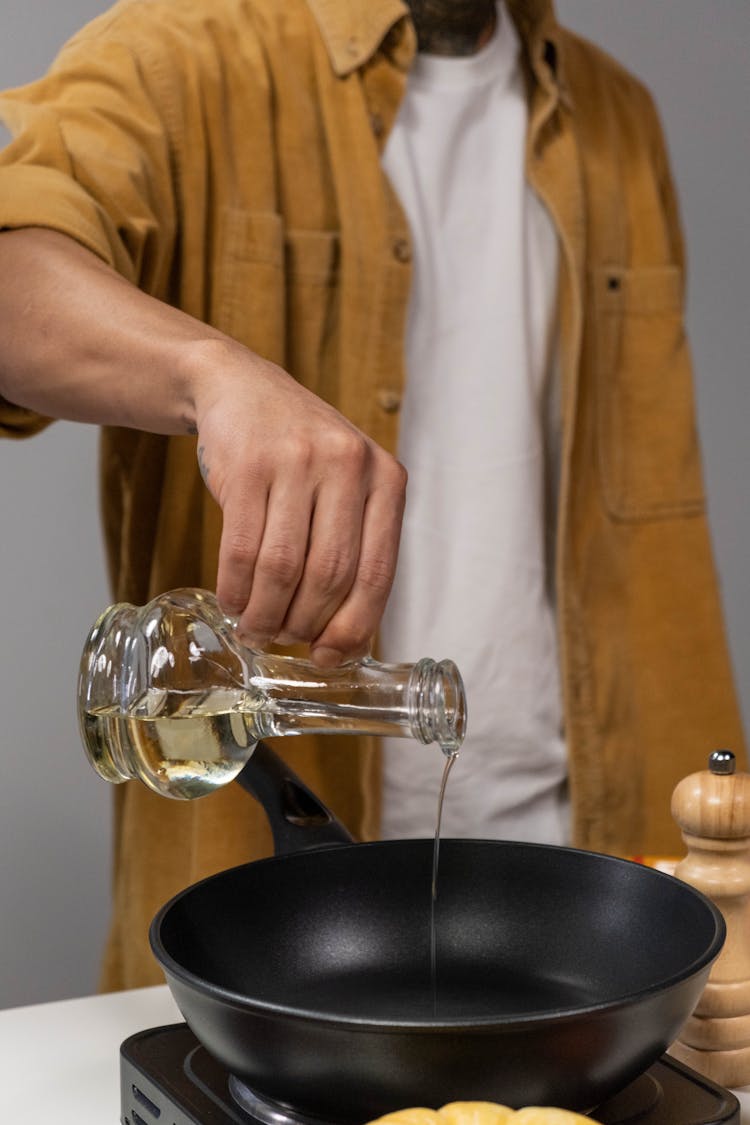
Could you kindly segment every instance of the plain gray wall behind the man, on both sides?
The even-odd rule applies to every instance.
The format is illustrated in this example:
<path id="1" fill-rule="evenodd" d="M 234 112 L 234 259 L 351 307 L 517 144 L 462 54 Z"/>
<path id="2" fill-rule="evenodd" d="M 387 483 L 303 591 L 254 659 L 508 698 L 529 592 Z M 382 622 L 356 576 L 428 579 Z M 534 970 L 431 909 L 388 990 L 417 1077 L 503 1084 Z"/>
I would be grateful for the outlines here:
<path id="1" fill-rule="evenodd" d="M 0 86 L 40 73 L 106 7 L 2 0 Z M 712 525 L 747 722 L 750 4 L 559 0 L 558 10 L 643 78 L 661 107 L 690 249 Z M 81 645 L 108 603 L 96 432 L 57 424 L 33 442 L 0 443 L 0 1007 L 10 1007 L 94 991 L 107 925 L 111 794 L 84 762 L 74 708 Z"/>

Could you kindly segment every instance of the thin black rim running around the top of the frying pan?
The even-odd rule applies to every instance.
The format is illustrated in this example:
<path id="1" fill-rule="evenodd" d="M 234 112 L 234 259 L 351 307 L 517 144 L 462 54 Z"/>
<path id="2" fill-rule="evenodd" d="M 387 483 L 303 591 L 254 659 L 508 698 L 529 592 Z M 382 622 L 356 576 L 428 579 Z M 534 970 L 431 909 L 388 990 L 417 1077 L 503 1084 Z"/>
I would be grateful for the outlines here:
<path id="1" fill-rule="evenodd" d="M 337 1030 L 351 1029 L 352 1032 L 382 1032 L 387 1034 L 408 1032 L 409 1034 L 435 1034 L 435 1033 L 452 1033 L 454 1030 L 476 1030 L 476 1032 L 487 1032 L 487 1033 L 498 1033 L 503 1030 L 517 1030 L 522 1027 L 540 1026 L 543 1024 L 554 1024 L 562 1025 L 568 1022 L 578 1020 L 581 1017 L 596 1016 L 597 1014 L 616 1011 L 618 1008 L 630 1007 L 632 1008 L 634 1004 L 641 1005 L 648 1001 L 650 997 L 661 996 L 668 992 L 670 989 L 678 987 L 686 980 L 698 975 L 702 971 L 710 970 L 712 963 L 719 956 L 721 948 L 724 944 L 726 936 L 726 925 L 723 915 L 715 906 L 711 899 L 698 891 L 697 888 L 693 886 L 690 883 L 686 883 L 684 880 L 677 879 L 675 875 L 670 875 L 667 872 L 659 871 L 654 867 L 648 867 L 644 864 L 639 863 L 635 860 L 627 860 L 622 856 L 608 855 L 604 852 L 594 852 L 586 848 L 575 848 L 566 845 L 554 845 L 554 844 L 537 844 L 533 842 L 521 842 L 521 840 L 487 840 L 479 839 L 475 837 L 446 837 L 441 838 L 441 848 L 444 845 L 449 846 L 464 846 L 464 845 L 478 845 L 478 844 L 501 844 L 507 847 L 517 846 L 524 850 L 527 849 L 539 849 L 544 852 L 570 852 L 576 855 L 585 855 L 594 857 L 595 861 L 605 861 L 615 865 L 627 865 L 640 868 L 642 872 L 648 872 L 648 878 L 653 878 L 654 881 L 667 881 L 668 883 L 678 883 L 681 889 L 689 892 L 698 902 L 701 902 L 707 910 L 707 914 L 713 918 L 714 932 L 711 942 L 707 944 L 703 953 L 695 957 L 687 965 L 683 966 L 679 972 L 666 976 L 660 981 L 654 982 L 645 989 L 638 989 L 635 991 L 630 991 L 622 993 L 620 996 L 597 1001 L 594 1004 L 585 1004 L 575 1008 L 563 1008 L 555 1009 L 549 1008 L 543 1011 L 534 1012 L 523 1012 L 523 1014 L 508 1014 L 507 1016 L 453 1016 L 449 1018 L 421 1018 L 421 1019 L 386 1019 L 382 1017 L 368 1017 L 368 1016 L 355 1016 L 355 1015 L 340 1015 L 335 1012 L 316 1011 L 313 1009 L 301 1008 L 292 1005 L 277 1004 L 270 1000 L 253 999 L 237 992 L 233 989 L 225 988 L 220 984 L 211 983 L 205 978 L 199 976 L 197 973 L 181 965 L 174 957 L 166 951 L 162 938 L 161 938 L 161 926 L 169 915 L 170 910 L 177 906 L 177 903 L 186 898 L 190 892 L 197 890 L 206 883 L 213 882 L 224 875 L 231 875 L 234 872 L 244 870 L 245 867 L 252 866 L 257 867 L 259 865 L 275 864 L 282 861 L 293 861 L 299 856 L 306 855 L 310 852 L 315 854 L 323 854 L 325 852 L 338 852 L 341 848 L 350 850 L 352 847 L 356 848 L 387 848 L 397 847 L 404 844 L 415 844 L 422 842 L 428 842 L 432 845 L 432 839 L 428 837 L 414 838 L 414 839 L 396 839 L 396 840 L 372 840 L 365 843 L 352 843 L 352 844 L 335 844 L 335 845 L 324 845 L 319 848 L 310 848 L 306 852 L 293 852 L 283 855 L 272 855 L 263 860 L 252 860 L 247 863 L 236 864 L 233 867 L 227 867 L 225 871 L 218 872 L 214 875 L 207 875 L 205 879 L 198 880 L 191 883 L 189 886 L 183 888 L 178 891 L 177 894 L 172 896 L 156 912 L 154 916 L 150 929 L 148 939 L 151 948 L 160 963 L 166 981 L 171 988 L 170 978 L 174 978 L 181 984 L 187 986 L 193 992 L 200 993 L 202 997 L 210 1000 L 220 1002 L 224 1006 L 229 1006 L 237 1010 L 242 1010 L 249 1015 L 259 1015 L 268 1018 L 282 1018 L 293 1022 L 304 1022 L 306 1024 L 317 1024 L 326 1027 L 335 1027 Z M 450 844 L 449 844 L 450 842 Z"/>

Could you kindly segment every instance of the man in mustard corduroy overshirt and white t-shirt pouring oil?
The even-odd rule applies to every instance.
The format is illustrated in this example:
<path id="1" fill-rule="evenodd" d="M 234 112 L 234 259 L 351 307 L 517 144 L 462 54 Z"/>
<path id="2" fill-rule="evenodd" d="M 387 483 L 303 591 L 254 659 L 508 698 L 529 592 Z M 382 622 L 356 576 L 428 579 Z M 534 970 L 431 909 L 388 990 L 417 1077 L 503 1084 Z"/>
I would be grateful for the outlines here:
<path id="1" fill-rule="evenodd" d="M 126 0 L 6 96 L 0 423 L 105 426 L 118 600 L 215 585 L 322 665 L 381 618 L 381 654 L 468 662 L 461 830 L 669 852 L 741 732 L 656 114 L 548 0 L 409 8 Z M 282 753 L 359 835 L 381 792 L 424 831 L 437 764 L 379 749 Z M 155 909 L 270 842 L 234 786 L 116 795 L 133 987 Z"/>

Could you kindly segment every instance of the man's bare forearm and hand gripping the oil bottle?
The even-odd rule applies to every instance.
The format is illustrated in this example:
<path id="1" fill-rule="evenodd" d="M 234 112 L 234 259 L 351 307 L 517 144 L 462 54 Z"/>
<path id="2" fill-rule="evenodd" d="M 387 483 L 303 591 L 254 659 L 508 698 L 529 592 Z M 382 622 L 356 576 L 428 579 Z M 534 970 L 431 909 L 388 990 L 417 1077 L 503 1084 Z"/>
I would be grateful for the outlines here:
<path id="1" fill-rule="evenodd" d="M 198 435 L 222 507 L 217 595 L 256 645 L 361 655 L 396 567 L 406 474 L 281 368 L 53 231 L 0 234 L 0 394 L 51 417 Z"/>

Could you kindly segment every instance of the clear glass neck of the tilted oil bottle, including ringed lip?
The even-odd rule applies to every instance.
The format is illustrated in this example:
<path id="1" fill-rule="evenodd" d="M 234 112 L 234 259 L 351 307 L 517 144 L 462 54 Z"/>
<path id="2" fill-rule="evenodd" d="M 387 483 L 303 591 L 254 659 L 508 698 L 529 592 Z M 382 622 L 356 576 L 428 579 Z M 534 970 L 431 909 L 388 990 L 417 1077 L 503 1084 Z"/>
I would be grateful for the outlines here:
<path id="1" fill-rule="evenodd" d="M 437 742 L 455 754 L 466 731 L 466 695 L 450 660 L 380 664 L 364 659 L 317 668 L 291 657 L 253 652 L 250 686 L 265 700 L 261 737 L 372 735 Z"/>

